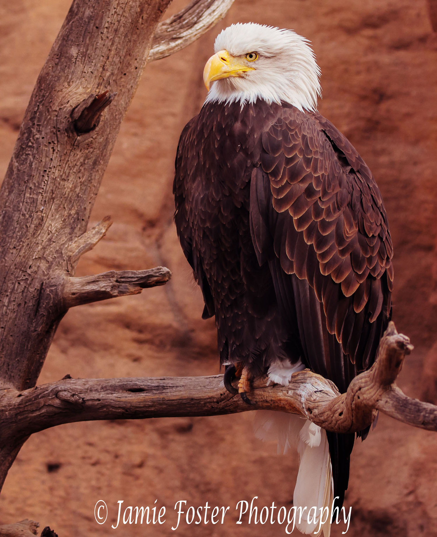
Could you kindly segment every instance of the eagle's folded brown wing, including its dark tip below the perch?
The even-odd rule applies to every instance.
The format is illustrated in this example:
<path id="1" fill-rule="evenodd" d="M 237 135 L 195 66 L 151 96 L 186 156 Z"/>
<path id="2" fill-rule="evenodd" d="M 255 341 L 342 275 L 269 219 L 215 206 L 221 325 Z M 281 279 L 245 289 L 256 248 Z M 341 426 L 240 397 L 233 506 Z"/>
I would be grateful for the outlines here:
<path id="1" fill-rule="evenodd" d="M 283 315 L 297 315 L 307 365 L 344 392 L 374 362 L 391 314 L 387 217 L 370 170 L 329 121 L 282 114 L 262 133 L 252 174 L 252 240 Z M 354 437 L 328 440 L 341 504 Z"/>

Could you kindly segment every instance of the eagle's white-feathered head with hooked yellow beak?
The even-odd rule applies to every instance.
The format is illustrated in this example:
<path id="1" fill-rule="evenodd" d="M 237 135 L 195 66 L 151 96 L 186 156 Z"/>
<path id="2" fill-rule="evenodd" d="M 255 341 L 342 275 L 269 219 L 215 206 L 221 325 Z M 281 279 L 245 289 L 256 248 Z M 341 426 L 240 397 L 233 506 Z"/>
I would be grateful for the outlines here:
<path id="1" fill-rule="evenodd" d="M 292 30 L 273 26 L 238 23 L 225 28 L 203 72 L 209 90 L 205 102 L 243 105 L 263 99 L 315 111 L 320 69 L 308 43 Z"/>

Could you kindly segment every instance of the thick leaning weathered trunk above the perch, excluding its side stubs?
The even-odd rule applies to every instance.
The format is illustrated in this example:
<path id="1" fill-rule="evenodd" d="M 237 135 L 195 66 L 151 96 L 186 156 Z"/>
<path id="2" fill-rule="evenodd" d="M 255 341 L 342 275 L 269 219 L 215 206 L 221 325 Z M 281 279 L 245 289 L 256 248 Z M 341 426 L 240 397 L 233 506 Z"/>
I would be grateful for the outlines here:
<path id="1" fill-rule="evenodd" d="M 23 389 L 38 379 L 66 311 L 64 275 L 74 275 L 77 262 L 63 252 L 87 228 L 169 3 L 74 0 L 38 77 L 0 191 L 0 386 Z M 117 98 L 98 127 L 79 136 L 71 114 L 90 91 Z"/>

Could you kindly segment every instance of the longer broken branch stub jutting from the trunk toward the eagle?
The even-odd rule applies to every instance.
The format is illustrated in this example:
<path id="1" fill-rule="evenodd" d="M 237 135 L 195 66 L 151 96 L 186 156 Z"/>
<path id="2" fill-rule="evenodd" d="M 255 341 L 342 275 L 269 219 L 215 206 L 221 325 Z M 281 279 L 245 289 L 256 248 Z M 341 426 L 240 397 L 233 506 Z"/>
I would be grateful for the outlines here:
<path id="1" fill-rule="evenodd" d="M 102 274 L 67 278 L 63 291 L 66 308 L 117 296 L 135 295 L 146 287 L 164 285 L 171 277 L 166 267 L 141 271 L 109 271 Z"/>

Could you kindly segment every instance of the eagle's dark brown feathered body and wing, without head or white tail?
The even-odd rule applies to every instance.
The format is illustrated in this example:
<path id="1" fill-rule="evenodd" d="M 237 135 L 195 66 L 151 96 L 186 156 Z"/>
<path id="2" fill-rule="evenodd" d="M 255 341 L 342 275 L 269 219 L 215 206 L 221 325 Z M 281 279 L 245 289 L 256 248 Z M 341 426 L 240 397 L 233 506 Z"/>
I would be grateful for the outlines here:
<path id="1" fill-rule="evenodd" d="M 221 362 L 299 358 L 345 391 L 391 314 L 392 244 L 374 179 L 320 114 L 205 104 L 176 157 L 175 222 L 216 316 Z M 353 436 L 328 435 L 335 494 Z"/>

